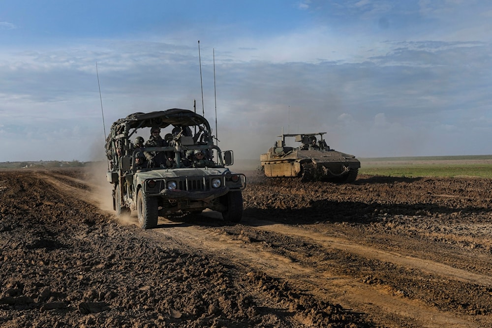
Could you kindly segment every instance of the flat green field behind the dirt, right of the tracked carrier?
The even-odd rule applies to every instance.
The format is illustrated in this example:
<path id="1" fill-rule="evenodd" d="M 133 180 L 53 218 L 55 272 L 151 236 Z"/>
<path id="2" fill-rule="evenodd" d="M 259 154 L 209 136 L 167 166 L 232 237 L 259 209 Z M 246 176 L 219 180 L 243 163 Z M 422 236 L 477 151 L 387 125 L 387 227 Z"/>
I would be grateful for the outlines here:
<path id="1" fill-rule="evenodd" d="M 359 174 L 492 178 L 492 155 L 362 158 Z"/>

